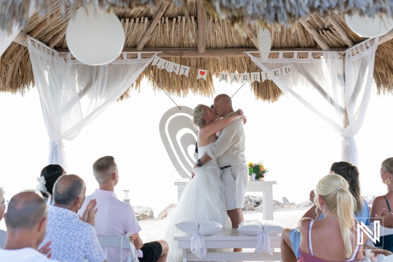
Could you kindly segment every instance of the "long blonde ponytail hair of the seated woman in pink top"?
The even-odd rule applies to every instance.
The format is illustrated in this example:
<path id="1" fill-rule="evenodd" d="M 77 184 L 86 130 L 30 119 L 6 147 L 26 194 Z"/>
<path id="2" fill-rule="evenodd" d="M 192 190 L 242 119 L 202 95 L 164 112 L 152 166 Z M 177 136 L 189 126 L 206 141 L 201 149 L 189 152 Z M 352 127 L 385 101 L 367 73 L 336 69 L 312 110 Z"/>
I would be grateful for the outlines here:
<path id="1" fill-rule="evenodd" d="M 325 175 L 315 188 L 314 204 L 321 210 L 324 208 L 337 214 L 341 237 L 345 247 L 345 257 L 350 257 L 353 253 L 352 239 L 354 226 L 355 199 L 349 192 L 349 185 L 344 177 L 337 174 Z M 318 198 L 321 196 L 327 206 L 322 207 Z M 355 240 L 354 240 L 355 241 Z"/>

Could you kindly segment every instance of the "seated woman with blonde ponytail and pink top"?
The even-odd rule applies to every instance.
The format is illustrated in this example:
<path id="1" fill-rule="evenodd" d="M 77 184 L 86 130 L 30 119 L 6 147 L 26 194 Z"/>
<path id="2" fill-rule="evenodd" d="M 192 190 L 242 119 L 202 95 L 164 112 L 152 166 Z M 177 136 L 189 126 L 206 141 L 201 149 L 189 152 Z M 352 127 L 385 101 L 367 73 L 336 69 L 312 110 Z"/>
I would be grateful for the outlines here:
<path id="1" fill-rule="evenodd" d="M 357 235 L 354 235 L 355 199 L 349 191 L 348 182 L 340 175 L 325 175 L 319 180 L 315 193 L 314 204 L 322 210 L 324 218 L 302 218 L 299 221 L 299 261 L 363 260 L 363 253 L 359 252 L 361 246 L 356 245 Z"/>

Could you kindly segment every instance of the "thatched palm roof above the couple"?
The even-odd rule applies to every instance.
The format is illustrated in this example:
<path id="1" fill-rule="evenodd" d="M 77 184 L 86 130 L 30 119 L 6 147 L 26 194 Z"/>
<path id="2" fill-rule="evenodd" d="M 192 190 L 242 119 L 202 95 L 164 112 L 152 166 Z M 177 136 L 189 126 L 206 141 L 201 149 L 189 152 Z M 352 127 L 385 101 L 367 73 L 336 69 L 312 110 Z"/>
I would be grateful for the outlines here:
<path id="1" fill-rule="evenodd" d="M 0 2 L 0 28 L 9 29 L 13 21 L 18 21 L 27 25 L 22 29 L 23 33 L 58 51 L 66 51 L 64 34 L 67 23 L 75 9 L 86 0 L 55 0 L 51 5 L 45 4 L 50 2 L 48 0 L 38 0 L 38 12 L 28 20 L 28 1 L 9 1 L 6 6 L 4 2 Z M 308 5 L 304 2 L 203 0 L 183 5 L 181 0 L 100 0 L 99 4 L 102 8 L 113 8 L 121 20 L 126 34 L 126 50 L 136 51 L 140 47 L 143 48 L 141 51 L 164 49 L 165 52 L 159 56 L 192 68 L 216 72 L 216 77 L 223 71 L 245 73 L 258 70 L 243 52 L 243 49 L 256 50 L 254 43 L 258 26 L 269 27 L 272 49 L 330 49 L 343 52 L 347 47 L 365 40 L 347 27 L 343 13 L 356 10 L 367 15 L 381 12 L 393 14 L 390 1 L 374 0 L 371 6 L 369 1 L 363 0 L 326 1 L 319 5 L 315 3 L 324 1 L 307 1 Z M 51 14 L 49 17 L 48 11 Z M 157 24 L 154 23 L 156 20 Z M 202 26 L 198 27 L 198 23 L 204 21 L 205 31 Z M 204 52 L 197 51 L 198 40 L 202 39 L 199 35 L 206 35 L 205 45 L 202 41 L 202 44 L 199 43 L 199 51 L 203 51 L 204 46 Z M 382 37 L 385 42 L 379 45 L 376 53 L 374 80 L 379 93 L 393 92 L 391 35 Z M 1 57 L 0 91 L 25 93 L 34 84 L 25 38 L 25 34 L 20 34 Z M 290 57 L 291 53 L 284 55 Z M 271 54 L 271 57 L 274 56 L 277 53 Z M 203 81 L 196 80 L 193 73 L 187 78 L 168 74 L 157 67 L 148 66 L 146 71 L 132 88 L 140 88 L 141 80 L 147 77 L 153 88 L 158 88 L 157 81 L 174 95 L 186 95 L 189 91 L 211 95 L 214 91 L 212 74 L 208 74 L 207 80 Z M 282 94 L 271 81 L 254 82 L 252 89 L 256 98 L 266 101 L 276 101 Z M 127 96 L 126 92 L 121 99 Z"/>

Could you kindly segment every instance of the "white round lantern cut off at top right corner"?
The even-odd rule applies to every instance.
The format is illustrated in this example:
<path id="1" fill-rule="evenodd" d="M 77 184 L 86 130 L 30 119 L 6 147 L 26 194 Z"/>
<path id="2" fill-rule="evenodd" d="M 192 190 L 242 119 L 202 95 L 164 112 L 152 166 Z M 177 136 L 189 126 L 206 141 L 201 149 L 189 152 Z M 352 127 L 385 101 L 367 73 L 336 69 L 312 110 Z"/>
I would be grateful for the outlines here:
<path id="1" fill-rule="evenodd" d="M 361 37 L 377 37 L 393 29 L 393 19 L 388 15 L 360 16 L 358 13 L 344 15 L 348 27 Z"/>

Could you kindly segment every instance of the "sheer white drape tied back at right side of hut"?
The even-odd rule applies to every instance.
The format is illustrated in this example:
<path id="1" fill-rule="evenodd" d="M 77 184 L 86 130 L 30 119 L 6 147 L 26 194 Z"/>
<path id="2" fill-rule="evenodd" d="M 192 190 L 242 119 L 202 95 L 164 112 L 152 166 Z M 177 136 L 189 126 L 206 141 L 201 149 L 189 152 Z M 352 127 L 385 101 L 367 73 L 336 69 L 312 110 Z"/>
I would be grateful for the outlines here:
<path id="1" fill-rule="evenodd" d="M 312 58 L 311 52 L 308 58 L 297 58 L 296 51 L 294 58 L 282 58 L 280 52 L 279 58 L 266 61 L 249 56 L 263 71 L 290 66 L 290 73 L 281 70 L 281 76 L 272 81 L 314 122 L 337 132 L 342 137 L 341 160 L 357 165 L 354 136 L 362 128 L 367 110 L 377 46 L 375 39 L 373 45 L 367 41 L 346 52 L 345 81 L 342 59 L 334 51 L 324 52 L 320 59 Z M 354 49 L 359 53 L 352 52 Z"/>

